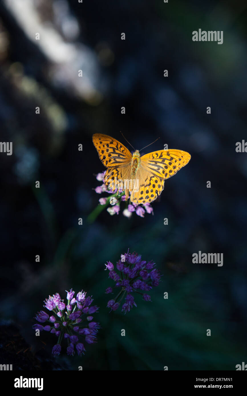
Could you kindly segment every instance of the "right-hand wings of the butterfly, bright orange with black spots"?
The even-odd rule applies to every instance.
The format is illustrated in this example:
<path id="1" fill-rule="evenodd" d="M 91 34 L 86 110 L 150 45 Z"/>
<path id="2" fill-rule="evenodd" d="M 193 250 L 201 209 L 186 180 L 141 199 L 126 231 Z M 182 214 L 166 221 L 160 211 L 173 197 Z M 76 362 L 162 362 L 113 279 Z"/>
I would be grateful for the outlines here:
<path id="1" fill-rule="evenodd" d="M 133 192 L 130 200 L 136 204 L 152 202 L 163 191 L 165 180 L 190 161 L 190 154 L 182 150 L 158 150 L 140 158 L 138 171 L 139 191 Z"/>

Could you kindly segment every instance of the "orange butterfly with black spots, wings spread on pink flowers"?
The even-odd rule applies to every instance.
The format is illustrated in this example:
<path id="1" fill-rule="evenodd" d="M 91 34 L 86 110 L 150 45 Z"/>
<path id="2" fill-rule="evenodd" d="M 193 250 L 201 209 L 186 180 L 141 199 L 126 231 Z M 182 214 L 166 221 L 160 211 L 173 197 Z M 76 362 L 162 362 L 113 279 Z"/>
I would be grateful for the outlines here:
<path id="1" fill-rule="evenodd" d="M 93 143 L 107 168 L 105 185 L 109 187 L 113 180 L 124 181 L 125 200 L 130 192 L 130 201 L 138 205 L 154 201 L 163 191 L 165 180 L 191 158 L 188 152 L 173 149 L 153 151 L 142 157 L 136 150 L 132 155 L 118 140 L 102 133 L 93 135 Z"/>

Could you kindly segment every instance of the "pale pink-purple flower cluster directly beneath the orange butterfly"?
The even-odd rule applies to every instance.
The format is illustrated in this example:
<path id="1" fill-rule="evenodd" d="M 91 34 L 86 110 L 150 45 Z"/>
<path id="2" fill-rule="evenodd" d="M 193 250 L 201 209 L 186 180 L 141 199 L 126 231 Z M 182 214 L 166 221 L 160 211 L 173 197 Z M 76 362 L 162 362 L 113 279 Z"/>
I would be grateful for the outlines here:
<path id="1" fill-rule="evenodd" d="M 111 216 L 115 214 L 118 215 L 120 212 L 120 204 L 122 201 L 125 201 L 125 194 L 123 190 L 120 189 L 118 195 L 116 195 L 117 190 L 113 191 L 110 188 L 106 187 L 104 184 L 104 176 L 105 176 L 105 172 L 98 173 L 98 175 L 96 175 L 96 179 L 98 181 L 103 181 L 103 184 L 101 186 L 96 187 L 94 190 L 97 194 L 102 194 L 104 192 L 111 194 L 111 196 L 109 197 L 100 198 L 99 202 L 100 205 L 106 205 L 106 204 L 111 205 L 106 209 Z M 144 205 L 137 205 L 134 204 L 133 202 L 130 202 L 129 200 L 128 202 L 126 202 L 126 208 L 123 210 L 123 215 L 125 217 L 131 217 L 133 212 L 136 212 L 136 214 L 140 217 L 144 217 L 145 213 L 153 214 L 153 208 L 151 207 L 149 202 Z"/>

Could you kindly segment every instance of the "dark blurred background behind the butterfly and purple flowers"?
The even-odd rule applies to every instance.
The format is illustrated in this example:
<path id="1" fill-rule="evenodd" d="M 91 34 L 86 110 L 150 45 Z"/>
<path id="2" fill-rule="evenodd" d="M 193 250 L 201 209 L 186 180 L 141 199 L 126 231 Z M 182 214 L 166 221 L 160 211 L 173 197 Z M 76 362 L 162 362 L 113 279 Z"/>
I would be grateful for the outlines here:
<path id="1" fill-rule="evenodd" d="M 240 0 L 2 0 L 1 141 L 13 142 L 13 154 L 0 153 L 1 363 L 235 370 L 247 362 L 247 154 L 236 152 L 247 139 L 246 16 Z M 193 42 L 198 29 L 223 30 L 223 44 Z M 131 150 L 120 131 L 136 148 L 160 137 L 145 153 L 168 144 L 191 161 L 165 183 L 153 216 L 104 210 L 89 223 L 104 170 L 92 134 Z M 109 314 L 104 263 L 128 248 L 157 263 L 162 283 L 152 302 L 140 296 L 126 315 Z M 199 250 L 223 253 L 224 265 L 192 264 Z M 53 359 L 56 337 L 35 337 L 33 316 L 71 287 L 93 295 L 102 329 L 82 358 Z"/>

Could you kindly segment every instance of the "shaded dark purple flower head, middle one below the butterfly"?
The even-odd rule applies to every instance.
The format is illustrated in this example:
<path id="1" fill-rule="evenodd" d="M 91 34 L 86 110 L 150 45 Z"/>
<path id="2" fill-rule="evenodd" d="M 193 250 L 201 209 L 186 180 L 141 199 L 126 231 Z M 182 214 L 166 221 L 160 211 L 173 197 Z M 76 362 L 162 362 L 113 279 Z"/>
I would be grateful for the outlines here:
<path id="1" fill-rule="evenodd" d="M 132 293 L 141 294 L 144 301 L 151 301 L 150 295 L 146 292 L 158 286 L 161 278 L 159 270 L 154 268 L 155 263 L 153 261 L 142 261 L 141 255 L 135 252 L 129 254 L 128 252 L 122 254 L 121 259 L 117 262 L 116 267 L 120 274 L 114 271 L 114 265 L 110 261 L 107 261 L 105 265 L 105 269 L 109 270 L 109 278 L 115 282 L 114 289 L 121 288 L 117 296 L 107 303 L 107 307 L 111 308 L 111 311 L 117 310 L 125 296 L 122 312 L 129 312 L 133 305 L 136 307 Z M 112 287 L 107 287 L 105 290 L 107 294 L 112 292 Z"/>

